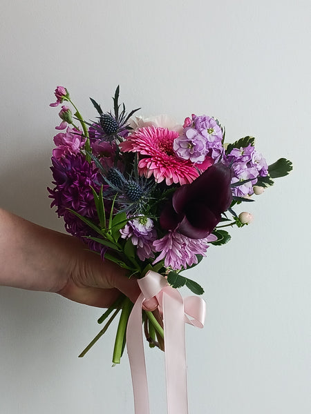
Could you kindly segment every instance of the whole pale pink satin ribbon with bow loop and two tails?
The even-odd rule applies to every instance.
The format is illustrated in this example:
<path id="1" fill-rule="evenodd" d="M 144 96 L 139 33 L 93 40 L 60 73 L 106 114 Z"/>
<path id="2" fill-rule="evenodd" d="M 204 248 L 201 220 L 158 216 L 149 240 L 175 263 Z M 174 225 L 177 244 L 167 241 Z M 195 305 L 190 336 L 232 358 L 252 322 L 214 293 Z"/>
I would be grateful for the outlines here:
<path id="1" fill-rule="evenodd" d="M 187 414 L 187 368 L 185 322 L 202 328 L 206 304 L 197 296 L 182 296 L 159 273 L 149 270 L 138 280 L 142 293 L 135 302 L 126 330 L 127 353 L 131 366 L 135 414 L 149 414 L 149 394 L 142 335 L 142 303 L 156 297 L 163 315 L 167 413 Z"/>

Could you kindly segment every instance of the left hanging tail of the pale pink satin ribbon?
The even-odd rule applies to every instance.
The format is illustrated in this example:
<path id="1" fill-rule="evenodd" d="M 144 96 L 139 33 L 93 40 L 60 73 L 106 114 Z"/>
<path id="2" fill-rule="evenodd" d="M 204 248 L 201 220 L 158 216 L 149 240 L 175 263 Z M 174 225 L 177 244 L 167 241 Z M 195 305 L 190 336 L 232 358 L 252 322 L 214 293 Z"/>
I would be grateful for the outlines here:
<path id="1" fill-rule="evenodd" d="M 131 366 L 135 414 L 149 414 L 149 393 L 142 337 L 142 302 L 144 302 L 143 294 L 135 302 L 126 328 L 126 346 Z"/>

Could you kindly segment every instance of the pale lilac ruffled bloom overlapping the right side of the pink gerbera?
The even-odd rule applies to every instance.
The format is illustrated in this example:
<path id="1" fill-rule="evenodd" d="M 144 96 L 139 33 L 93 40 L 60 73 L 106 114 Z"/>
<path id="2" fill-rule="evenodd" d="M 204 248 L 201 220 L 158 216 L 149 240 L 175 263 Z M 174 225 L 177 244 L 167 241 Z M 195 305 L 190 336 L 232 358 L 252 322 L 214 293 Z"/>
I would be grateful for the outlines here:
<path id="1" fill-rule="evenodd" d="M 202 163 L 207 155 L 206 139 L 194 128 L 185 128 L 182 134 L 174 139 L 173 150 L 182 159 Z"/>

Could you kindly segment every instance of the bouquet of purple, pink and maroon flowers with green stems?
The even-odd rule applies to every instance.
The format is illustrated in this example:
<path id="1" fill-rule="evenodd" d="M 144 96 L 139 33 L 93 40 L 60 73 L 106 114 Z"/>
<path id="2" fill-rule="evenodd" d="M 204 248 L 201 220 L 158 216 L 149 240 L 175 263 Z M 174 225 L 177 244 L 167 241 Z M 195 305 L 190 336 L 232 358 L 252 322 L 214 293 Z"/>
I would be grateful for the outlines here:
<path id="1" fill-rule="evenodd" d="M 59 112 L 62 122 L 56 129 L 62 132 L 54 137 L 51 206 L 64 218 L 68 233 L 83 239 L 103 260 L 122 266 L 128 277 L 140 279 L 140 324 L 149 345 L 162 350 L 165 346 L 167 353 L 171 342 L 164 341 L 164 331 L 173 329 L 174 321 L 163 325 L 165 298 L 174 297 L 174 288 L 181 286 L 203 293 L 184 270 L 200 263 L 209 244 L 228 242 L 227 228 L 247 225 L 252 215 L 240 213 L 240 205 L 254 201 L 252 195 L 272 186 L 274 178 L 287 175 L 292 164 L 281 158 L 267 166 L 254 137 L 227 144 L 225 128 L 214 117 L 193 114 L 183 124 L 165 115 L 137 117 L 138 109 L 126 112 L 119 103 L 119 92 L 117 87 L 110 112 L 91 99 L 97 114 L 86 121 L 68 90 L 57 86 L 57 101 L 51 106 L 66 102 L 73 111 L 63 105 Z M 159 302 L 153 313 L 141 307 L 148 295 L 146 277 L 147 291 L 153 282 L 157 285 L 149 292 Z M 121 312 L 113 352 L 113 362 L 119 363 L 132 308 L 129 299 L 120 296 L 99 319 L 106 325 L 81 356 Z M 189 311 L 190 323 L 202 326 L 202 301 L 194 308 L 202 315 Z M 176 413 L 183 412 L 178 409 Z"/>

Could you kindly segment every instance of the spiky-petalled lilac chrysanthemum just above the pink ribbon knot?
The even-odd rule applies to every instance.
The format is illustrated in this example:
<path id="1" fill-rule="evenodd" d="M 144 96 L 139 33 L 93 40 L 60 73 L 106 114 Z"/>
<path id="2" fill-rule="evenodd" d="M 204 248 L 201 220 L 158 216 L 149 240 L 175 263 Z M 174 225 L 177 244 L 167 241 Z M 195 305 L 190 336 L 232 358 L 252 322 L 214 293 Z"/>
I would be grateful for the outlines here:
<path id="1" fill-rule="evenodd" d="M 182 267 L 192 266 L 198 263 L 196 255 L 205 256 L 208 242 L 216 239 L 214 235 L 209 235 L 204 239 L 190 239 L 177 231 L 169 230 L 162 239 L 153 242 L 153 250 L 160 252 L 153 264 L 164 259 L 164 266 L 173 270 L 180 270 Z"/>

